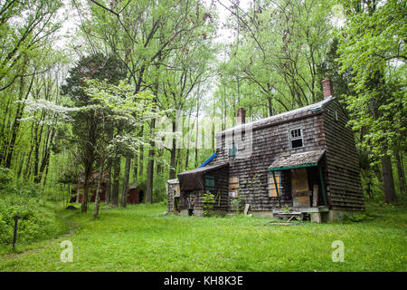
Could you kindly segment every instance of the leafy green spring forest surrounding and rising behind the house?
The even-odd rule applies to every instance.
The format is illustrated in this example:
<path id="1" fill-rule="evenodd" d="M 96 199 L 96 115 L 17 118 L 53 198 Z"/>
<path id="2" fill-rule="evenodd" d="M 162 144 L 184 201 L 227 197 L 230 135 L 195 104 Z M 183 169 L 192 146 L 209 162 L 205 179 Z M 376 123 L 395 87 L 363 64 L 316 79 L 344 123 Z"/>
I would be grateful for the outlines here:
<path id="1" fill-rule="evenodd" d="M 405 0 L 0 1 L 0 244 L 15 214 L 33 217 L 22 239 L 48 237 L 50 204 L 78 182 L 93 218 L 127 208 L 134 183 L 165 204 L 238 108 L 256 121 L 319 102 L 326 78 L 366 202 L 402 203 L 406 14 Z"/>

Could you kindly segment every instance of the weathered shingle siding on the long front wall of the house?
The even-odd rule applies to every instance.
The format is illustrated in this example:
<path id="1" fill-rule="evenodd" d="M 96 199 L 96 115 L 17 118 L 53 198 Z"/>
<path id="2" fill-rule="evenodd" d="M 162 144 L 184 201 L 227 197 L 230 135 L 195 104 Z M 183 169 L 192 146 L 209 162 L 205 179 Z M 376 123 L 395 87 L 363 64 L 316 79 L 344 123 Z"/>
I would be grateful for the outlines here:
<path id="1" fill-rule="evenodd" d="M 267 124 L 266 124 L 267 125 Z M 289 128 L 301 125 L 304 135 L 304 147 L 289 149 Z M 243 195 L 246 203 L 251 204 L 251 210 L 272 210 L 279 208 L 278 198 L 270 198 L 267 191 L 267 176 L 270 164 L 281 155 L 320 150 L 325 148 L 323 123 L 320 112 L 302 111 L 295 121 L 278 122 L 270 127 L 254 128 L 252 131 L 252 153 L 246 159 L 231 160 L 229 177 L 239 178 L 239 194 Z M 224 135 L 223 135 L 224 136 Z M 249 146 L 250 139 L 238 140 L 238 148 Z M 213 164 L 227 162 L 228 150 L 222 133 L 216 137 L 217 157 Z M 238 150 L 239 152 L 239 150 Z M 238 153 L 239 154 L 239 153 Z M 284 189 L 281 205 L 292 206 L 289 189 L 289 171 L 283 175 Z"/>

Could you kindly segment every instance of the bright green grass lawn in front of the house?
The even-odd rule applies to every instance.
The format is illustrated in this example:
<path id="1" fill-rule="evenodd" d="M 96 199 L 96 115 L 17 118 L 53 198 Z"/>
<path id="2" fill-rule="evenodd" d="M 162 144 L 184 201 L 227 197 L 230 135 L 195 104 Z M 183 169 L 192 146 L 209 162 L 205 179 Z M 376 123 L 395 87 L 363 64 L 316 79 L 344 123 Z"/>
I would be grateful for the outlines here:
<path id="1" fill-rule="evenodd" d="M 374 208 L 373 220 L 291 226 L 270 218 L 179 218 L 163 205 L 101 210 L 92 220 L 59 209 L 71 232 L 0 250 L 0 271 L 406 271 L 407 210 Z M 369 211 L 368 211 L 369 212 Z M 62 263 L 62 240 L 73 262 Z M 345 262 L 332 261 L 332 243 Z"/>

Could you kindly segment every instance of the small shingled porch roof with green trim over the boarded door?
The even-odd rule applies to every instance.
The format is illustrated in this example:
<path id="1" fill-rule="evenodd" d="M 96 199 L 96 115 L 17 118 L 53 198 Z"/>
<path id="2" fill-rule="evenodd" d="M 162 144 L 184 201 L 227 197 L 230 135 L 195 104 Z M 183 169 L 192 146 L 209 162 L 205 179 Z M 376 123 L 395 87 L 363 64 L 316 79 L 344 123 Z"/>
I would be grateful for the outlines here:
<path id="1" fill-rule="evenodd" d="M 324 153 L 325 150 L 314 150 L 300 152 L 289 156 L 281 156 L 271 163 L 269 171 L 317 166 Z"/>

